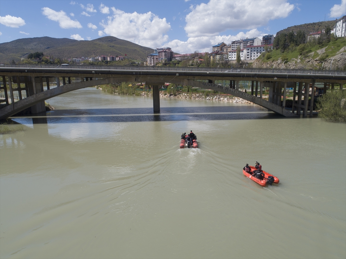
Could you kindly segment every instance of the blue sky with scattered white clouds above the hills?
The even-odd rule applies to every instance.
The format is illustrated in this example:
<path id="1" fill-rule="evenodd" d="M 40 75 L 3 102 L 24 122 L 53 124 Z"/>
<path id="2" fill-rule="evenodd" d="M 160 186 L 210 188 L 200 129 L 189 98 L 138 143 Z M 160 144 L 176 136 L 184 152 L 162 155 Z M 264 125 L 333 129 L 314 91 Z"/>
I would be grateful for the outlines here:
<path id="1" fill-rule="evenodd" d="M 293 25 L 334 20 L 346 0 L 0 1 L 0 42 L 49 36 L 115 36 L 151 48 L 190 53 L 218 42 L 275 34 Z"/>

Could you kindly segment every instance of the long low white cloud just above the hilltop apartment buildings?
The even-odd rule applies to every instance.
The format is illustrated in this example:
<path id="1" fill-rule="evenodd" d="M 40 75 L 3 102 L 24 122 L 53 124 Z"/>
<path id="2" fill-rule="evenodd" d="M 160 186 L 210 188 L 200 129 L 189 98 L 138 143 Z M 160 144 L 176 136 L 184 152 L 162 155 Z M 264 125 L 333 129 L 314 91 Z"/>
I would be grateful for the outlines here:
<path id="1" fill-rule="evenodd" d="M 201 37 L 190 37 L 187 41 L 172 40 L 163 45 L 163 47 L 170 47 L 174 52 L 181 54 L 192 53 L 195 50 L 201 52 L 211 52 L 211 46 L 224 41 L 230 43 L 233 40 L 260 37 L 264 35 L 257 29 L 252 29 L 247 32 L 239 32 L 237 35 L 218 35 L 218 36 L 201 36 Z"/>

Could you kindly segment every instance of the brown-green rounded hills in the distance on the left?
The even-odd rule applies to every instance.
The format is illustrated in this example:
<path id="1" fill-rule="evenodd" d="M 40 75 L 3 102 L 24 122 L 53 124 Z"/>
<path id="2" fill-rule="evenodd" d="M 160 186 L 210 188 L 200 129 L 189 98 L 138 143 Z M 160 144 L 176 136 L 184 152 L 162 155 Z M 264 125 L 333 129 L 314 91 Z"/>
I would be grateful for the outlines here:
<path id="1" fill-rule="evenodd" d="M 43 52 L 45 56 L 54 58 L 125 56 L 134 60 L 146 60 L 151 48 L 133 42 L 106 36 L 94 40 L 56 39 L 50 37 L 17 39 L 0 44 L 0 62 L 10 63 L 27 57 L 29 53 Z"/>

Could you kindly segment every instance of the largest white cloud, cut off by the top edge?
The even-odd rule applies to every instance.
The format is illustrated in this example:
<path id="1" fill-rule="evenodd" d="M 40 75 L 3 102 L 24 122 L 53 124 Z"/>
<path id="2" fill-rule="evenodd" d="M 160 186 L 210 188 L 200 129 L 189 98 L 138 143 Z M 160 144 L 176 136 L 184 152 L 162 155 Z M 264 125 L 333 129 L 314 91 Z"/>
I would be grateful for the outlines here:
<path id="1" fill-rule="evenodd" d="M 269 20 L 285 18 L 294 5 L 280 0 L 209 1 L 191 6 L 185 31 L 189 37 L 216 36 L 229 29 L 253 29 Z"/>

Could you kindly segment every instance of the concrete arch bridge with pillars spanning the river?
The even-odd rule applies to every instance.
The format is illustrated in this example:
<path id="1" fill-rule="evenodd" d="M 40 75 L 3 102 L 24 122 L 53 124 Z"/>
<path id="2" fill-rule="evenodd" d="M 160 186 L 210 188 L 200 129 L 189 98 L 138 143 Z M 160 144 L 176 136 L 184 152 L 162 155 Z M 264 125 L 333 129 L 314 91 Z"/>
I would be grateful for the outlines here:
<path id="1" fill-rule="evenodd" d="M 5 95 L 5 99 L 1 100 L 4 104 L 0 109 L 0 119 L 29 107 L 31 113 L 44 112 L 44 100 L 73 90 L 125 81 L 146 82 L 146 85 L 152 86 L 154 113 L 160 112 L 160 85 L 173 83 L 234 95 L 286 117 L 297 117 L 301 112 L 307 116 L 308 111 L 312 116 L 315 83 L 324 83 L 324 93 L 327 83 L 332 89 L 339 84 L 340 90 L 346 83 L 346 71 L 298 69 L 0 64 L 0 76 L 4 82 L 0 89 L 4 89 Z M 72 83 L 71 78 L 77 80 Z M 230 86 L 217 85 L 215 80 L 229 80 Z M 251 81 L 250 94 L 239 90 L 239 81 L 243 80 Z M 50 82 L 56 82 L 57 87 L 50 89 Z M 11 103 L 6 86 L 10 90 Z M 269 88 L 268 100 L 263 99 L 263 87 Z M 297 101 L 293 102 L 291 110 L 285 108 L 286 88 L 293 88 L 293 100 Z M 22 91 L 25 91 L 26 98 L 22 98 Z M 19 97 L 18 102 L 15 102 L 14 96 Z"/>

